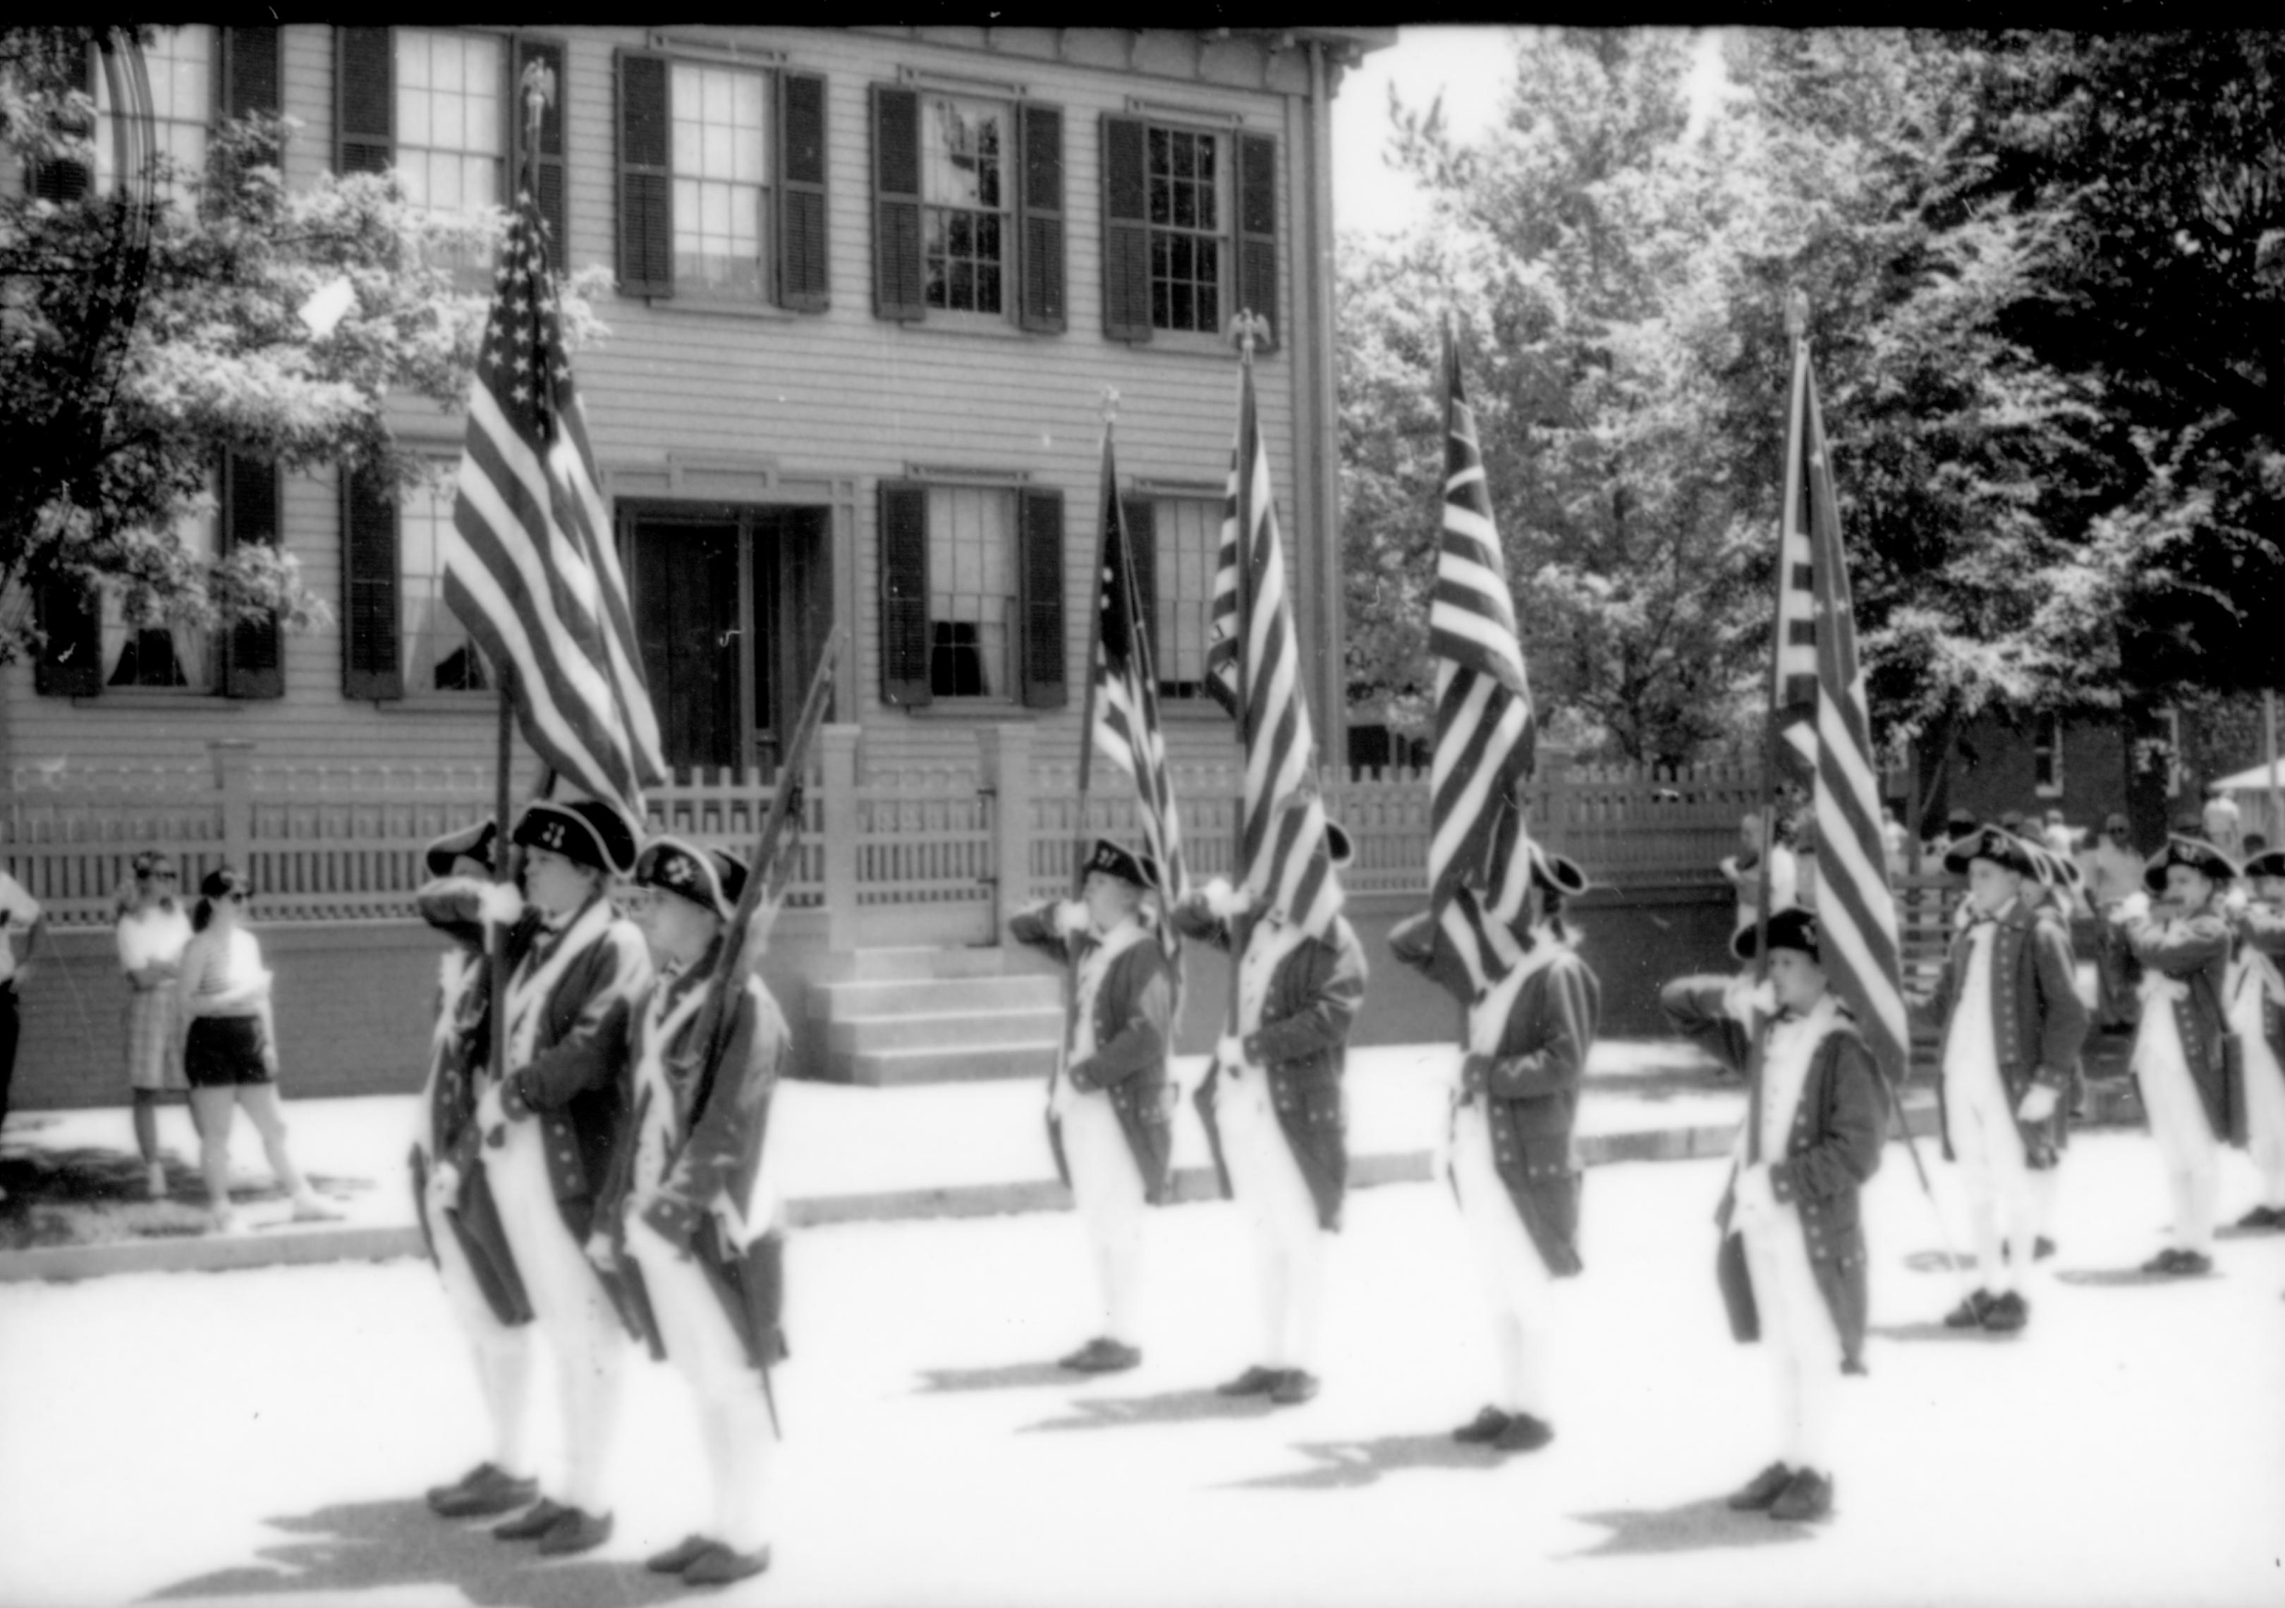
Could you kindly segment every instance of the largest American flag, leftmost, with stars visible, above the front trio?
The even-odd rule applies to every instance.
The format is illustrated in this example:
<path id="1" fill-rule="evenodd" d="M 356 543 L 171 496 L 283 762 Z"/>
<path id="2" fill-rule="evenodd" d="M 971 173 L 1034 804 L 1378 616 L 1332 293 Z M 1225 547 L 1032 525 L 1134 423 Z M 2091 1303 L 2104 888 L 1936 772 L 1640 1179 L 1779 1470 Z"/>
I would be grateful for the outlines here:
<path id="1" fill-rule="evenodd" d="M 498 669 L 526 742 L 640 822 L 642 788 L 667 767 L 530 185 L 491 283 L 443 596 Z"/>

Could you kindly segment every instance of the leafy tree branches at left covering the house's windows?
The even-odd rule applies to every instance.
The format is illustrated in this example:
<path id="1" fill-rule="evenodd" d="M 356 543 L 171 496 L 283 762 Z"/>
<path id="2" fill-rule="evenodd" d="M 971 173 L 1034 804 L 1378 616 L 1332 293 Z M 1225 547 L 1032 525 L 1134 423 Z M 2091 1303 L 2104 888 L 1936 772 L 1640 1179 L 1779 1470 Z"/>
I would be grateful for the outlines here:
<path id="1" fill-rule="evenodd" d="M 98 32 L 0 30 L 0 144 L 34 174 L 0 196 L 0 660 L 39 637 L 48 582 L 114 587 L 133 624 L 320 614 L 290 555 L 201 562 L 176 528 L 210 502 L 224 452 L 414 475 L 388 402 L 466 395 L 484 292 L 459 265 L 505 222 L 430 217 L 395 176 L 288 190 L 290 119 L 224 123 L 203 174 L 155 164 L 174 203 L 98 192 L 96 105 L 78 89 Z M 327 286 L 347 311 L 306 322 Z M 592 331 L 578 290 L 564 313 L 571 338 Z"/>

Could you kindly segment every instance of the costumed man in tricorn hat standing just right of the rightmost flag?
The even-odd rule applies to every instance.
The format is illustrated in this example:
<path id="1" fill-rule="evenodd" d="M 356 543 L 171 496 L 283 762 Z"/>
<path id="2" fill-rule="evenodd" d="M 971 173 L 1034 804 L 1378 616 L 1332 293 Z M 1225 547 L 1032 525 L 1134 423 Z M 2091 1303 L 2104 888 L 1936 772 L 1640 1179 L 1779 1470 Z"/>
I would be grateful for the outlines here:
<path id="1" fill-rule="evenodd" d="M 2031 1176 L 2054 1169 L 2068 1137 L 2086 1005 L 2070 927 L 2047 904 L 2047 877 L 2059 873 L 2045 850 L 1981 827 L 1945 852 L 1945 870 L 1967 877 L 1967 900 L 1929 998 L 1942 1026 L 1935 1108 L 1981 1275 L 1945 1322 L 2011 1334 L 2031 1313 L 2022 1293 L 2041 1238 Z"/>

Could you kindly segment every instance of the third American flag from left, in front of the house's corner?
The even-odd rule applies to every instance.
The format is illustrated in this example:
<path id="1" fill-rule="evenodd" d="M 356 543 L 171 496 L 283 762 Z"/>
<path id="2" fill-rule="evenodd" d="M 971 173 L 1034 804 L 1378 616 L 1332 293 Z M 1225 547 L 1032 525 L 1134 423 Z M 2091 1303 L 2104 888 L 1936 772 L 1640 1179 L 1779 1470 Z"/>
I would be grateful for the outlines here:
<path id="1" fill-rule="evenodd" d="M 1229 461 L 1211 621 L 1206 688 L 1236 713 L 1245 745 L 1238 868 L 1254 909 L 1280 909 L 1323 936 L 1344 895 L 1316 790 L 1316 735 L 1300 688 L 1300 644 L 1286 603 L 1284 544 L 1250 363 L 1238 379 L 1238 450 Z"/>

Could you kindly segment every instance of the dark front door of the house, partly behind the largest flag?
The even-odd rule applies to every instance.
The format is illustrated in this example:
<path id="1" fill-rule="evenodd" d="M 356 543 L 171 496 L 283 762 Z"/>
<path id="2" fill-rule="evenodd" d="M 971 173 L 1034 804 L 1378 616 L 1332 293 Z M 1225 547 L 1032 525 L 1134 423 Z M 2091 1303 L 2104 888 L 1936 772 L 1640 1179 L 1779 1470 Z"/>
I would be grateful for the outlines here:
<path id="1" fill-rule="evenodd" d="M 642 674 L 674 770 L 777 767 L 832 621 L 823 507 L 622 507 Z"/>

